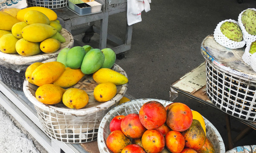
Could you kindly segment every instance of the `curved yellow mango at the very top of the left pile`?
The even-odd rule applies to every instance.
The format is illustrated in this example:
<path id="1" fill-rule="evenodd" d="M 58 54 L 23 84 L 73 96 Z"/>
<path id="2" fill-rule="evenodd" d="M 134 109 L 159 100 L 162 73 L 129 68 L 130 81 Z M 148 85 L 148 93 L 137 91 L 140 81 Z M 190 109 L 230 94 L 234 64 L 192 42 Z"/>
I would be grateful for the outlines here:
<path id="1" fill-rule="evenodd" d="M 49 18 L 50 21 L 57 20 L 57 14 L 54 11 L 52 11 L 49 8 L 40 7 L 40 6 L 34 6 L 34 7 L 28 7 L 28 8 L 21 9 L 17 13 L 17 19 L 20 21 L 24 21 L 24 16 L 25 16 L 26 12 L 30 11 L 30 10 L 40 11 L 40 12 L 44 13 Z"/>

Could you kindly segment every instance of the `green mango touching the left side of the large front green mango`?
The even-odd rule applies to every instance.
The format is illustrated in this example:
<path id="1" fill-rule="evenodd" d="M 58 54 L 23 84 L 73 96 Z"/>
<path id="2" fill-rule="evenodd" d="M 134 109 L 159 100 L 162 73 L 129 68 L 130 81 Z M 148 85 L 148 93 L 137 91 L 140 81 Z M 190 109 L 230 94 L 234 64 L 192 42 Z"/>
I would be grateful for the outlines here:
<path id="1" fill-rule="evenodd" d="M 67 66 L 73 69 L 80 68 L 86 52 L 81 46 L 71 48 L 67 52 Z"/>

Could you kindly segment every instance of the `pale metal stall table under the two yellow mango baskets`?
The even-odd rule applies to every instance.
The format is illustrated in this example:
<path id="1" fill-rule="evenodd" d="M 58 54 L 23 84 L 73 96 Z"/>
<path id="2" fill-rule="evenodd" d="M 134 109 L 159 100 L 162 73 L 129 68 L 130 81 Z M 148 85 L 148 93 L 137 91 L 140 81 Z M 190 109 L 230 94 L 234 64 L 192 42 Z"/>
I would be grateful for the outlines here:
<path id="1" fill-rule="evenodd" d="M 132 96 L 125 94 L 129 99 Z M 49 153 L 99 153 L 97 141 L 71 144 L 51 139 L 44 133 L 34 105 L 23 91 L 7 87 L 0 81 L 0 105 L 8 111 Z"/>

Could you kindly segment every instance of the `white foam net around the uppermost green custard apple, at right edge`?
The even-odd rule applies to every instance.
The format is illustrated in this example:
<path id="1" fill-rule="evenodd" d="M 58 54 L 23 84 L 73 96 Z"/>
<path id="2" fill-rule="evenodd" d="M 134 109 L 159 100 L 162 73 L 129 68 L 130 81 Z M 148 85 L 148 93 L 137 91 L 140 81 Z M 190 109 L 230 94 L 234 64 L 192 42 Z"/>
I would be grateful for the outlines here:
<path id="1" fill-rule="evenodd" d="M 252 9 L 252 10 L 256 11 L 255 8 L 247 8 L 247 9 Z M 245 10 L 244 10 L 244 11 L 245 11 Z M 244 28 L 244 24 L 243 24 L 242 21 L 241 21 L 241 17 L 242 17 L 242 14 L 244 13 L 244 11 L 241 11 L 241 13 L 240 13 L 239 16 L 238 16 L 238 25 L 240 26 L 241 31 L 242 31 L 242 33 L 243 33 L 244 41 L 245 41 L 246 43 L 249 43 L 249 42 L 255 41 L 255 40 L 256 40 L 256 36 L 251 35 L 251 34 L 248 34 L 248 32 L 247 32 L 247 31 L 245 30 L 245 28 Z"/>

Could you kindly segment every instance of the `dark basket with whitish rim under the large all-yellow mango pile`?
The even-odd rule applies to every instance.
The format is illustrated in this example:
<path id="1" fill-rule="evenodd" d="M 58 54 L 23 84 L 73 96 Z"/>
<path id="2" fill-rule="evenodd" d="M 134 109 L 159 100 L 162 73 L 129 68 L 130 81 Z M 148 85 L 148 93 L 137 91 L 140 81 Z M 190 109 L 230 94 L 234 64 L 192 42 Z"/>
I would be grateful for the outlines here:
<path id="1" fill-rule="evenodd" d="M 34 56 L 23 57 L 19 54 L 6 54 L 0 51 L 0 78 L 3 83 L 9 88 L 22 91 L 25 71 L 29 65 L 57 57 L 63 48 L 72 48 L 74 45 L 72 34 L 64 28 L 60 33 L 66 39 L 66 42 L 61 43 L 61 48 L 51 54 L 41 52 Z"/>

